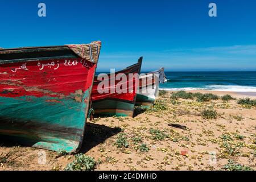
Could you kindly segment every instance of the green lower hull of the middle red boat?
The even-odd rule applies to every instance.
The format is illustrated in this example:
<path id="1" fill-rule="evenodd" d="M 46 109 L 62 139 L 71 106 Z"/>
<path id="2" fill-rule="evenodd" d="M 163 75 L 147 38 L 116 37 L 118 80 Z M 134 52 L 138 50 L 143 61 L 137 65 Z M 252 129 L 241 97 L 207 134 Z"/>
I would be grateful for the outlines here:
<path id="1" fill-rule="evenodd" d="M 96 117 L 133 117 L 134 104 L 122 100 L 105 99 L 92 102 Z"/>

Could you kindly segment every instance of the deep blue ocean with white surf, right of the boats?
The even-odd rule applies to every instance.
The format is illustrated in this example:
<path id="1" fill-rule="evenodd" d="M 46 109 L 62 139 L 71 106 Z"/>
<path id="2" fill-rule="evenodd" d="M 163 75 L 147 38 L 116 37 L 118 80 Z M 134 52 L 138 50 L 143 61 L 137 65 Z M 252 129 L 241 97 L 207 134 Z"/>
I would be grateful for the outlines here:
<path id="1" fill-rule="evenodd" d="M 256 92 L 256 72 L 165 72 L 164 90 Z"/>

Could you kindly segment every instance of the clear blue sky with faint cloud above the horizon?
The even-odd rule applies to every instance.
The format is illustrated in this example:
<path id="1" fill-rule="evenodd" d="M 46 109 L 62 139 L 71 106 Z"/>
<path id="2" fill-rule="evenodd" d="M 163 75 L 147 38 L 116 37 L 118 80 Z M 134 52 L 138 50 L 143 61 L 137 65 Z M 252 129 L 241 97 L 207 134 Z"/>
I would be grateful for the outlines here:
<path id="1" fill-rule="evenodd" d="M 47 17 L 39 18 L 38 4 Z M 217 5 L 217 17 L 208 5 Z M 256 1 L 0 0 L 0 47 L 102 41 L 98 71 L 256 71 Z"/>

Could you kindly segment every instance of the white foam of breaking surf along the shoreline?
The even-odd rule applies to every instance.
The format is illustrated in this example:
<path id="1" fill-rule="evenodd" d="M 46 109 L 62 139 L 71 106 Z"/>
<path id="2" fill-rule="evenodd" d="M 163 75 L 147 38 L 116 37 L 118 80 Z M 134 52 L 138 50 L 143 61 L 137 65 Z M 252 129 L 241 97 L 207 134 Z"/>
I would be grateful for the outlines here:
<path id="1" fill-rule="evenodd" d="M 201 88 L 160 88 L 160 90 L 167 91 L 189 91 L 189 90 L 213 90 L 213 91 L 226 91 L 226 92 L 256 92 L 256 86 L 240 86 L 240 85 L 209 85 Z"/>

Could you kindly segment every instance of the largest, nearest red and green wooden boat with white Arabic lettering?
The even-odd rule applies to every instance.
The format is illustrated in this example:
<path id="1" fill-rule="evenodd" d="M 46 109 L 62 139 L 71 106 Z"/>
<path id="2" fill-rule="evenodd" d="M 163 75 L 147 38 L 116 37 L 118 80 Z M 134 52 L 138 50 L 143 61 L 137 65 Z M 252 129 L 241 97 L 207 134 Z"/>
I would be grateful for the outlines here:
<path id="1" fill-rule="evenodd" d="M 101 42 L 0 50 L 0 134 L 79 151 Z"/>

